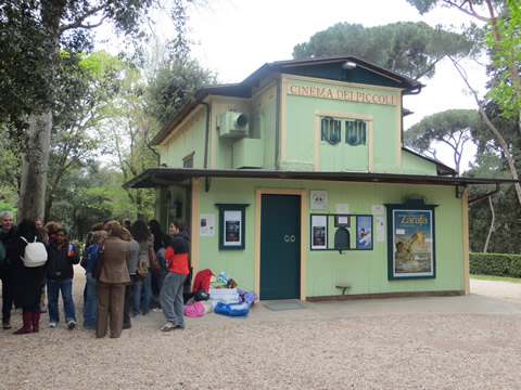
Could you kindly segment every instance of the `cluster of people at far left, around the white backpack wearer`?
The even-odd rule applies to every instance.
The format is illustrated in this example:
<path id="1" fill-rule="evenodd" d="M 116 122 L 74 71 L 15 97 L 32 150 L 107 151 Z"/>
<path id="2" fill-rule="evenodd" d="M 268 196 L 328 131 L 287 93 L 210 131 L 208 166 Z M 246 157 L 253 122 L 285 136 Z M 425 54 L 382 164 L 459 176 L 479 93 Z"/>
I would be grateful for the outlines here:
<path id="1" fill-rule="evenodd" d="M 65 229 L 54 222 L 42 226 L 40 220 L 25 218 L 17 226 L 11 211 L 0 212 L 0 240 L 7 258 L 0 264 L 2 281 L 2 327 L 11 328 L 13 303 L 22 308 L 23 326 L 15 335 L 39 330 L 42 291 L 47 287 L 49 326 L 60 321 L 59 296 L 62 295 L 65 321 L 69 329 L 76 326 L 73 300 L 74 264 L 79 262 L 79 252 L 67 239 Z M 39 266 L 25 266 L 26 247 L 35 242 L 45 245 L 47 261 Z"/>

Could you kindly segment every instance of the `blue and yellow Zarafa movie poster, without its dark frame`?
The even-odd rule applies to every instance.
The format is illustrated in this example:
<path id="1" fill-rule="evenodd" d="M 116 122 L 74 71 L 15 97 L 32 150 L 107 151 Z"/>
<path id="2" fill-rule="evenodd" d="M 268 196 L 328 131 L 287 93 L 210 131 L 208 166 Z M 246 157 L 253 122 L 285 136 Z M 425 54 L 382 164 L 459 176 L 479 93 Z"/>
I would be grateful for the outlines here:
<path id="1" fill-rule="evenodd" d="M 393 210 L 393 277 L 434 275 L 431 210 Z"/>

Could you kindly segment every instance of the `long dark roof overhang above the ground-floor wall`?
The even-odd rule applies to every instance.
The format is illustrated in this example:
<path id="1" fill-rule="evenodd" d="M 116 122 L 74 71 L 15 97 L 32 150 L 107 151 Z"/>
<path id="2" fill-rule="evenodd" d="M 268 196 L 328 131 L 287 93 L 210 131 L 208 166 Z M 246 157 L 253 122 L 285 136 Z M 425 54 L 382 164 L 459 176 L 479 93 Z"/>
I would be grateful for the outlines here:
<path id="1" fill-rule="evenodd" d="M 152 188 L 168 185 L 189 185 L 192 178 L 233 178 L 233 179 L 284 179 L 284 180 L 321 180 L 339 182 L 404 183 L 430 185 L 470 184 L 513 184 L 519 180 L 482 179 L 462 177 L 437 177 L 427 174 L 396 174 L 367 172 L 309 172 L 264 169 L 192 169 L 157 167 L 147 169 L 143 173 L 126 182 L 126 188 Z"/>

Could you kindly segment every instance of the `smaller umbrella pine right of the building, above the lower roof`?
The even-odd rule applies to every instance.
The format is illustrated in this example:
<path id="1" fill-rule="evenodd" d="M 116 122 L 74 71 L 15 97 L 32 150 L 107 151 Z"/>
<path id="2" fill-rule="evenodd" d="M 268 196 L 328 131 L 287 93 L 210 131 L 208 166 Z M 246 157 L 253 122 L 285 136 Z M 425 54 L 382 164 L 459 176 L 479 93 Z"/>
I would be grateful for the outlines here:
<path id="1" fill-rule="evenodd" d="M 480 122 L 478 112 L 472 109 L 448 109 L 423 118 L 405 132 L 405 144 L 420 153 L 436 158 L 433 143 L 439 142 L 453 150 L 456 171 L 460 162 L 465 144 L 472 142 L 472 129 Z"/>

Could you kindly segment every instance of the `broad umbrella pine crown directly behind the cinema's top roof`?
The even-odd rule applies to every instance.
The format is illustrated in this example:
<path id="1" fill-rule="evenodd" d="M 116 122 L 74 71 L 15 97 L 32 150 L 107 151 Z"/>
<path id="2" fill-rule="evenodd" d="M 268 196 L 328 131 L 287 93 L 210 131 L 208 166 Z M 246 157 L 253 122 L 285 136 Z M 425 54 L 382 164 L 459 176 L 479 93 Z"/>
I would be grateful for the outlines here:
<path id="1" fill-rule="evenodd" d="M 435 65 L 446 55 L 459 56 L 473 47 L 465 36 L 432 28 L 423 22 L 398 22 L 365 28 L 338 23 L 316 32 L 308 42 L 293 48 L 293 58 L 355 55 L 412 79 L 434 76 Z"/>

